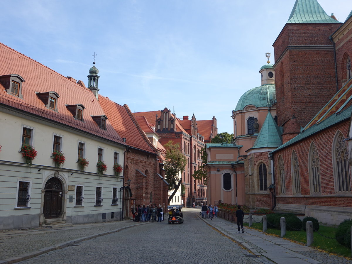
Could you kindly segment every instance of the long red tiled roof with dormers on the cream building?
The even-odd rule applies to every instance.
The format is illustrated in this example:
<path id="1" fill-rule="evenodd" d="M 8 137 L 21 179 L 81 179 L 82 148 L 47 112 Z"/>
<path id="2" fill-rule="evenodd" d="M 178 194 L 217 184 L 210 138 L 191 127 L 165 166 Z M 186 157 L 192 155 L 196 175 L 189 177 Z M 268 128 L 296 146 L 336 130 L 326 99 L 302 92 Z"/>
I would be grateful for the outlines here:
<path id="1" fill-rule="evenodd" d="M 1 84 L 3 88 L 0 91 L 1 104 L 125 145 L 109 120 L 106 120 L 106 130 L 103 130 L 92 119 L 92 116 L 105 115 L 105 112 L 89 89 L 2 43 L 0 43 L 0 57 L 1 63 L 6 65 L 6 69 L 0 67 L 0 76 L 18 74 L 25 80 L 21 91 L 23 98 L 8 94 Z M 56 100 L 57 111 L 48 109 L 36 92 L 57 93 L 59 95 Z M 76 120 L 66 107 L 77 104 L 84 106 L 84 122 Z"/>

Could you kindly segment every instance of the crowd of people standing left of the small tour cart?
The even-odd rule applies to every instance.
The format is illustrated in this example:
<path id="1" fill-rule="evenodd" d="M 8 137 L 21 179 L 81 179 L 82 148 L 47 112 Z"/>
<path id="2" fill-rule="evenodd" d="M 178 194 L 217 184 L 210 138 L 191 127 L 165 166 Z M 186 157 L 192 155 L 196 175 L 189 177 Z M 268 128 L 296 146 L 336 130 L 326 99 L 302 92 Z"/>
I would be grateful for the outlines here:
<path id="1" fill-rule="evenodd" d="M 161 205 L 138 205 L 132 208 L 135 222 L 161 222 L 164 221 L 165 203 Z M 157 220 L 158 219 L 158 220 Z"/>

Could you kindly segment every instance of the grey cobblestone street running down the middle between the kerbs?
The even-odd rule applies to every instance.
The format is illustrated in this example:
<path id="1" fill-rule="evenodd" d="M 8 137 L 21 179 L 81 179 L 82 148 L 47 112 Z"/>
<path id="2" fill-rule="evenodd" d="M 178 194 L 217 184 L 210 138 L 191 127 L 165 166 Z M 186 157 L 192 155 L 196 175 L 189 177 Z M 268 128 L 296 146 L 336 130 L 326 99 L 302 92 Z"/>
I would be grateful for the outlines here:
<path id="1" fill-rule="evenodd" d="M 241 248 L 194 213 L 184 223 L 149 223 L 82 241 L 19 263 L 274 263 Z"/>

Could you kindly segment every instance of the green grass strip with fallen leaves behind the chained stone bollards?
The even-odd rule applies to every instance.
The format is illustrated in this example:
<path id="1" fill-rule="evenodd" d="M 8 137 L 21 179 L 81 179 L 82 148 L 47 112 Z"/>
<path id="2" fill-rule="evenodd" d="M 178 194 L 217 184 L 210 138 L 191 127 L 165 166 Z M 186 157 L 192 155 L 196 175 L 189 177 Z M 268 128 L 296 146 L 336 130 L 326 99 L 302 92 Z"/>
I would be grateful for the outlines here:
<path id="1" fill-rule="evenodd" d="M 248 223 L 243 223 L 244 226 L 248 226 Z M 254 229 L 257 229 L 259 231 L 263 231 L 263 224 L 262 223 L 253 223 L 252 227 Z M 320 235 L 317 232 L 314 232 L 313 236 L 313 244 L 311 245 L 312 247 L 315 247 L 316 249 L 320 249 L 323 251 L 326 251 L 331 254 L 337 254 L 339 256 L 344 256 L 351 258 L 351 249 L 341 246 L 335 239 L 335 232 L 336 232 L 335 227 L 330 227 L 330 226 L 320 226 L 319 228 L 319 233 L 322 235 L 325 235 L 327 237 L 333 238 L 325 238 L 322 235 Z M 272 229 L 268 228 L 267 234 L 272 234 L 272 235 L 277 235 L 280 237 L 281 231 L 277 229 Z M 286 239 L 296 241 L 298 243 L 306 244 L 307 243 L 307 235 L 306 232 L 301 230 L 301 231 L 286 231 L 285 237 Z"/>

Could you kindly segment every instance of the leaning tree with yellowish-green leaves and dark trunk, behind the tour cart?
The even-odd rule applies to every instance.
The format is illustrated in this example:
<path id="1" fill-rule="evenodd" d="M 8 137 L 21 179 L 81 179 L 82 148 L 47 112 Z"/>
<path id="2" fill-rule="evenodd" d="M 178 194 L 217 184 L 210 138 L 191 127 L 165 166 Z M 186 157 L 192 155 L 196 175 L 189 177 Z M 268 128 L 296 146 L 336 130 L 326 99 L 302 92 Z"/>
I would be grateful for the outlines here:
<path id="1" fill-rule="evenodd" d="M 181 147 L 179 143 L 175 143 L 170 140 L 164 145 L 166 149 L 165 155 L 165 180 L 169 183 L 169 190 L 174 190 L 169 197 L 169 203 L 174 198 L 178 188 L 182 183 L 182 178 L 179 175 L 182 175 L 182 172 L 185 170 L 187 165 L 187 159 L 182 154 Z M 172 188 L 172 185 L 174 188 Z"/>

